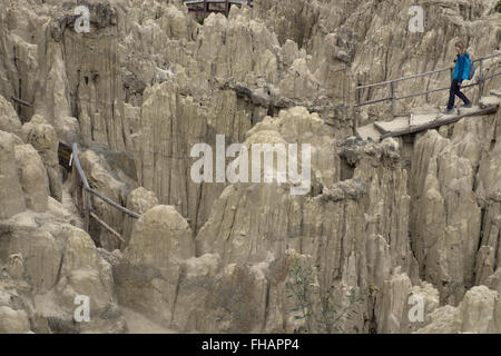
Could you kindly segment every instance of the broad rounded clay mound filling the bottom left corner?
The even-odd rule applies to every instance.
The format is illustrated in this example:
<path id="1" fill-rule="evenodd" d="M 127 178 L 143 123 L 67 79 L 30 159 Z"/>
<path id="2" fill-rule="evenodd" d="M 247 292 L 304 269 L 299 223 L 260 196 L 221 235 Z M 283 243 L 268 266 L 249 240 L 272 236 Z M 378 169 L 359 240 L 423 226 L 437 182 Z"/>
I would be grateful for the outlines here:
<path id="1" fill-rule="evenodd" d="M 0 231 L 0 264 L 4 266 L 0 290 L 17 296 L 2 305 L 17 310 L 18 319 L 27 314 L 26 332 L 124 330 L 119 310 L 110 313 L 117 309 L 110 265 L 88 234 L 49 212 L 29 210 L 2 220 Z M 73 319 L 78 295 L 89 297 L 90 323 Z M 57 326 L 61 323 L 66 328 Z"/>

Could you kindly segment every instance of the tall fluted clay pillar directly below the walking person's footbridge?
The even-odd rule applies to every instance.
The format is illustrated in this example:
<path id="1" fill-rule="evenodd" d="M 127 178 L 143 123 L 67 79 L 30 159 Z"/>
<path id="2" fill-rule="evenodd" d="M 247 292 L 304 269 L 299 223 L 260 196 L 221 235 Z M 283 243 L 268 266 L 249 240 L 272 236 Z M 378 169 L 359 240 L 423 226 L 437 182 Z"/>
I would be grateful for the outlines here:
<path id="1" fill-rule="evenodd" d="M 426 132 L 415 144 L 413 178 L 419 202 L 413 218 L 422 273 L 440 285 L 443 298 L 451 297 L 454 303 L 462 299 L 464 291 L 458 288 L 473 283 L 481 209 L 473 192 L 474 170 L 470 160 L 464 151 L 458 156 L 448 144 L 436 131 Z M 459 145 L 468 144 L 463 140 Z M 475 154 L 473 145 L 471 151 Z"/>

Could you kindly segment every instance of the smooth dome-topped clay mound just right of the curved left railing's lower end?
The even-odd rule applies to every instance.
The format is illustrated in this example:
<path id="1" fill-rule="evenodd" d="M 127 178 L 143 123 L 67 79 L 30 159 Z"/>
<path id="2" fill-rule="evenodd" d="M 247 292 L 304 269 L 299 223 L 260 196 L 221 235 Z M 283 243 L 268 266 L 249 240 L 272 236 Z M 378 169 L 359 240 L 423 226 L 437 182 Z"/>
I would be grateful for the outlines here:
<path id="1" fill-rule="evenodd" d="M 184 259 L 195 256 L 191 230 L 171 207 L 158 205 L 134 225 L 114 274 L 120 304 L 170 322 Z"/>

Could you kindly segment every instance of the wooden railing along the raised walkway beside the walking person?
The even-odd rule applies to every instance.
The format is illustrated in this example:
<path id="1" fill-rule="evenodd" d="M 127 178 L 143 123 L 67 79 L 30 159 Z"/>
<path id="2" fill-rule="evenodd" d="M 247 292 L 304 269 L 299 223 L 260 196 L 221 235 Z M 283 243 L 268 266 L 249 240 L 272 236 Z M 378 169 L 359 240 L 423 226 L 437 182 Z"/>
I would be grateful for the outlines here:
<path id="1" fill-rule="evenodd" d="M 494 55 L 491 55 L 491 56 L 488 56 L 488 57 L 482 57 L 482 58 L 479 58 L 477 60 L 473 60 L 474 63 L 480 62 L 480 66 L 478 68 L 478 71 L 479 71 L 478 81 L 474 82 L 474 83 L 468 85 L 468 86 L 462 86 L 461 89 L 479 86 L 479 98 L 480 98 L 482 96 L 482 93 L 483 93 L 483 88 L 484 88 L 485 81 L 489 80 L 489 79 L 492 79 L 494 77 L 501 76 L 501 72 L 498 72 L 498 73 L 484 77 L 483 76 L 483 63 L 484 63 L 485 60 L 489 60 L 489 59 L 492 59 L 492 58 L 495 58 L 495 57 L 499 57 L 499 56 L 501 56 L 501 52 L 494 53 Z M 382 98 L 382 99 L 375 99 L 375 100 L 370 100 L 370 101 L 364 101 L 364 102 L 358 102 L 358 103 L 355 105 L 355 107 L 362 107 L 362 106 L 366 106 L 366 105 L 373 105 L 373 103 L 391 100 L 392 101 L 392 115 L 393 115 L 393 117 L 402 116 L 402 115 L 397 115 L 396 113 L 396 100 L 409 99 L 409 98 L 419 97 L 419 96 L 426 96 L 426 95 L 429 95 L 431 92 L 449 90 L 450 87 L 439 88 L 439 89 L 431 89 L 431 90 L 426 90 L 426 91 L 421 91 L 421 92 L 416 92 L 416 93 L 406 95 L 406 96 L 403 96 L 403 97 L 397 97 L 396 96 L 396 83 L 399 81 L 421 78 L 421 77 L 424 77 L 424 76 L 431 76 L 431 75 L 440 73 L 440 72 L 443 72 L 443 71 L 448 71 L 448 70 L 451 72 L 451 77 L 452 77 L 452 71 L 454 70 L 454 67 L 439 69 L 439 70 L 432 70 L 432 71 L 426 71 L 426 72 L 414 75 L 414 76 L 409 76 L 409 77 L 403 77 L 403 78 L 399 78 L 399 79 L 376 82 L 376 83 L 373 83 L 373 85 L 356 87 L 355 90 L 356 90 L 356 92 L 358 92 L 358 90 L 362 90 L 362 89 L 367 89 L 367 88 L 374 88 L 374 87 L 381 87 L 381 86 L 390 85 L 391 97 L 386 97 L 386 98 Z"/>

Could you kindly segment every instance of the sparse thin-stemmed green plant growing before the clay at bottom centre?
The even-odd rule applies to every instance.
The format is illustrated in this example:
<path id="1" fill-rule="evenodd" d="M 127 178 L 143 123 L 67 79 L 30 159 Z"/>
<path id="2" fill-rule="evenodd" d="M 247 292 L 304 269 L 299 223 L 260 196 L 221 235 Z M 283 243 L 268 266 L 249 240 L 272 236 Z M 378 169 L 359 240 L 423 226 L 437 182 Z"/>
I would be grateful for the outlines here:
<path id="1" fill-rule="evenodd" d="M 286 283 L 287 298 L 294 298 L 296 307 L 292 312 L 301 312 L 296 319 L 305 319 L 305 326 L 297 333 L 332 334 L 344 332 L 346 320 L 357 315 L 357 305 L 365 301 L 365 288 L 352 288 L 347 295 L 347 305 L 336 305 L 331 298 L 314 301 L 313 268 L 305 267 L 295 258 Z M 358 290 L 357 290 L 358 289 Z"/>

